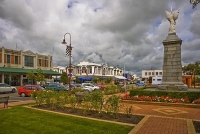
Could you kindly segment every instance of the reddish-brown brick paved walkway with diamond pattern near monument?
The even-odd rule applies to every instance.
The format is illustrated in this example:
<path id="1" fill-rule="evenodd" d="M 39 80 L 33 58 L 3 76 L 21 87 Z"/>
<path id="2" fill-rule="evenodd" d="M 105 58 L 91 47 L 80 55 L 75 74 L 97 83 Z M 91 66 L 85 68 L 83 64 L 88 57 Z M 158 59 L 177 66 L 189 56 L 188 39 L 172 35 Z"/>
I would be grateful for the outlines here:
<path id="1" fill-rule="evenodd" d="M 32 102 L 34 101 L 10 102 L 9 107 Z M 140 103 L 121 105 L 131 105 L 133 114 L 145 115 L 129 134 L 196 134 L 192 121 L 200 121 L 200 108 Z M 3 109 L 3 104 L 0 104 L 0 109 Z"/>

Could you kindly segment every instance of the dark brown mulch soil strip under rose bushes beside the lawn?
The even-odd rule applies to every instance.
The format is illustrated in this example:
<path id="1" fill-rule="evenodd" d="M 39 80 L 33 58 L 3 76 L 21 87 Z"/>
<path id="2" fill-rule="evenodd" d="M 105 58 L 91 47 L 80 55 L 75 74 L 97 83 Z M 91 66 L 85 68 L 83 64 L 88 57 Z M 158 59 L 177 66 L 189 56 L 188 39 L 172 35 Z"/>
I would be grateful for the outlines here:
<path id="1" fill-rule="evenodd" d="M 32 107 L 49 110 L 49 111 L 60 112 L 60 113 L 73 114 L 73 115 L 78 115 L 78 116 L 83 116 L 83 117 L 90 117 L 90 118 L 96 118 L 96 119 L 101 119 L 101 120 L 109 120 L 109 121 L 116 121 L 116 122 L 129 123 L 129 124 L 138 124 L 144 118 L 144 116 L 132 115 L 132 114 L 127 115 L 127 114 L 118 113 L 116 116 L 114 116 L 113 114 L 106 113 L 106 112 L 101 112 L 101 113 L 98 113 L 97 111 L 85 112 L 83 109 L 77 109 L 77 108 L 72 109 L 69 107 L 55 108 L 55 109 L 47 107 L 46 105 L 40 105 L 40 106 L 35 105 Z"/>

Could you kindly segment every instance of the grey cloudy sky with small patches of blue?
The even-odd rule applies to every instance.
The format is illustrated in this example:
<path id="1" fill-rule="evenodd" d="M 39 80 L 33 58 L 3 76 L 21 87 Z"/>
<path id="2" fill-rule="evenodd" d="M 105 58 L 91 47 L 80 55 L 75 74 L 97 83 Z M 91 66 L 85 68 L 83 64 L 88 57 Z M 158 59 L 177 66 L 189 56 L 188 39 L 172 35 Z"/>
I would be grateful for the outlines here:
<path id="1" fill-rule="evenodd" d="M 72 64 L 107 63 L 139 75 L 162 69 L 165 10 L 178 8 L 187 65 L 200 60 L 200 5 L 192 9 L 189 0 L 0 0 L 0 47 L 51 55 L 54 66 L 66 66 L 61 42 L 70 33 Z"/>

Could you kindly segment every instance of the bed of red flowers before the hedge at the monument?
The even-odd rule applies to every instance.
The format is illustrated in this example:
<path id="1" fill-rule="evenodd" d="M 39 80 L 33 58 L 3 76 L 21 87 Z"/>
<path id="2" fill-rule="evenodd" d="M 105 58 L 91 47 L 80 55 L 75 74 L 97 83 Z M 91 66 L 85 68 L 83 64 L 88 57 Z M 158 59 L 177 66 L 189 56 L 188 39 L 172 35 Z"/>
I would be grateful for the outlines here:
<path id="1" fill-rule="evenodd" d="M 130 96 L 129 94 L 125 94 L 122 96 L 123 100 L 135 100 L 135 101 L 149 101 L 149 102 L 170 102 L 170 103 L 190 103 L 189 98 L 171 98 L 167 96 Z M 192 101 L 192 104 L 200 104 L 200 98 Z"/>

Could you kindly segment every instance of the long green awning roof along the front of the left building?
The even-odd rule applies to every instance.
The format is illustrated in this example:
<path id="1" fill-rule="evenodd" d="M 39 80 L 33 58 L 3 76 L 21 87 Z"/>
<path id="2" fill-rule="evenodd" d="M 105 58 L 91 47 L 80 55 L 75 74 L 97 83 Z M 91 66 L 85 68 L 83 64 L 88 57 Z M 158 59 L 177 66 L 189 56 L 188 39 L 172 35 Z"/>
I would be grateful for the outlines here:
<path id="1" fill-rule="evenodd" d="M 25 69 L 25 68 L 9 68 L 9 67 L 0 67 L 0 72 L 8 72 L 8 73 L 30 73 L 33 71 L 36 73 L 37 69 Z M 42 70 L 43 74 L 50 75 L 61 75 L 60 73 L 53 70 Z"/>

